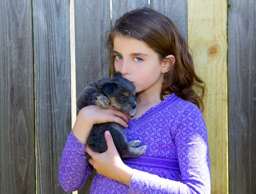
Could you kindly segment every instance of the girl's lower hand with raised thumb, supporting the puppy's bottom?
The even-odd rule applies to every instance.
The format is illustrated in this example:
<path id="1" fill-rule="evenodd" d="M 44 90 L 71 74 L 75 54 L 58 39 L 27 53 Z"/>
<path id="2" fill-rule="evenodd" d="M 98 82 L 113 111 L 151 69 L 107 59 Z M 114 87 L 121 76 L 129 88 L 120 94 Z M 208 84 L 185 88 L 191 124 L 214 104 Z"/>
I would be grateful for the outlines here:
<path id="1" fill-rule="evenodd" d="M 122 162 L 109 131 L 105 132 L 105 139 L 108 150 L 104 153 L 94 152 L 86 145 L 86 152 L 92 157 L 88 162 L 93 165 L 98 174 L 130 186 L 133 169 Z"/>

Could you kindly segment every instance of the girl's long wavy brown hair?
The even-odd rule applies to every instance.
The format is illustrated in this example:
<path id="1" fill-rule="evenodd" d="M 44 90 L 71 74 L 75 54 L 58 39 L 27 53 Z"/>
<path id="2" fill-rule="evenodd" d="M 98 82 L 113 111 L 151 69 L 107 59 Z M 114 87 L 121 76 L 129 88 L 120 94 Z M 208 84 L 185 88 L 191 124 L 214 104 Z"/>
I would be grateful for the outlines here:
<path id="1" fill-rule="evenodd" d="M 148 8 L 134 9 L 116 20 L 108 35 L 111 77 L 115 72 L 113 38 L 119 35 L 143 41 L 159 55 L 159 61 L 167 55 L 174 55 L 175 64 L 164 75 L 161 101 L 163 95 L 175 93 L 183 100 L 196 104 L 203 112 L 205 83 L 195 74 L 189 46 L 172 20 Z M 201 96 L 195 93 L 192 86 L 201 90 Z"/>

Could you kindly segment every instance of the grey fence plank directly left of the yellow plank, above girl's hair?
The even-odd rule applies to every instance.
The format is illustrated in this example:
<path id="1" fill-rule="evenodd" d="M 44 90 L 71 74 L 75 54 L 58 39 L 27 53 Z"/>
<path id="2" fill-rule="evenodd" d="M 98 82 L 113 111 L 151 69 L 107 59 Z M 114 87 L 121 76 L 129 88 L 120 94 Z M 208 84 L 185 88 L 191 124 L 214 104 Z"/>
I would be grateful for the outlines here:
<path id="1" fill-rule="evenodd" d="M 150 8 L 169 17 L 188 39 L 187 0 L 151 0 Z"/>

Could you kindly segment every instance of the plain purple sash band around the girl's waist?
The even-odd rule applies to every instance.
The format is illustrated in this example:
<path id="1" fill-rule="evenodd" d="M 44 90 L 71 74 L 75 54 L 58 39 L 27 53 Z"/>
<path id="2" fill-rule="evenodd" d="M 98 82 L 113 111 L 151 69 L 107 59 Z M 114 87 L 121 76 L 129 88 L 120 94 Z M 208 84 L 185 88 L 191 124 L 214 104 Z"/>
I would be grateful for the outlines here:
<path id="1" fill-rule="evenodd" d="M 124 159 L 124 163 L 180 171 L 179 162 L 176 159 L 160 158 L 153 156 L 140 156 L 138 158 Z"/>

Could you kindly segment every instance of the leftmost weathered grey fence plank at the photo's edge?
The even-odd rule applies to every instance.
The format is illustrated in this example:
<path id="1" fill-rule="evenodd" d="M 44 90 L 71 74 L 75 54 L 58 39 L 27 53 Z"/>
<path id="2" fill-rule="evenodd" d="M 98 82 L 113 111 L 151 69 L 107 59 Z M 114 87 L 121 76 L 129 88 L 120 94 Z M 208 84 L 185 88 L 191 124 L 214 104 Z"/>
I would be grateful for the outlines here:
<path id="1" fill-rule="evenodd" d="M 0 1 L 0 193 L 35 193 L 31 1 Z"/>

